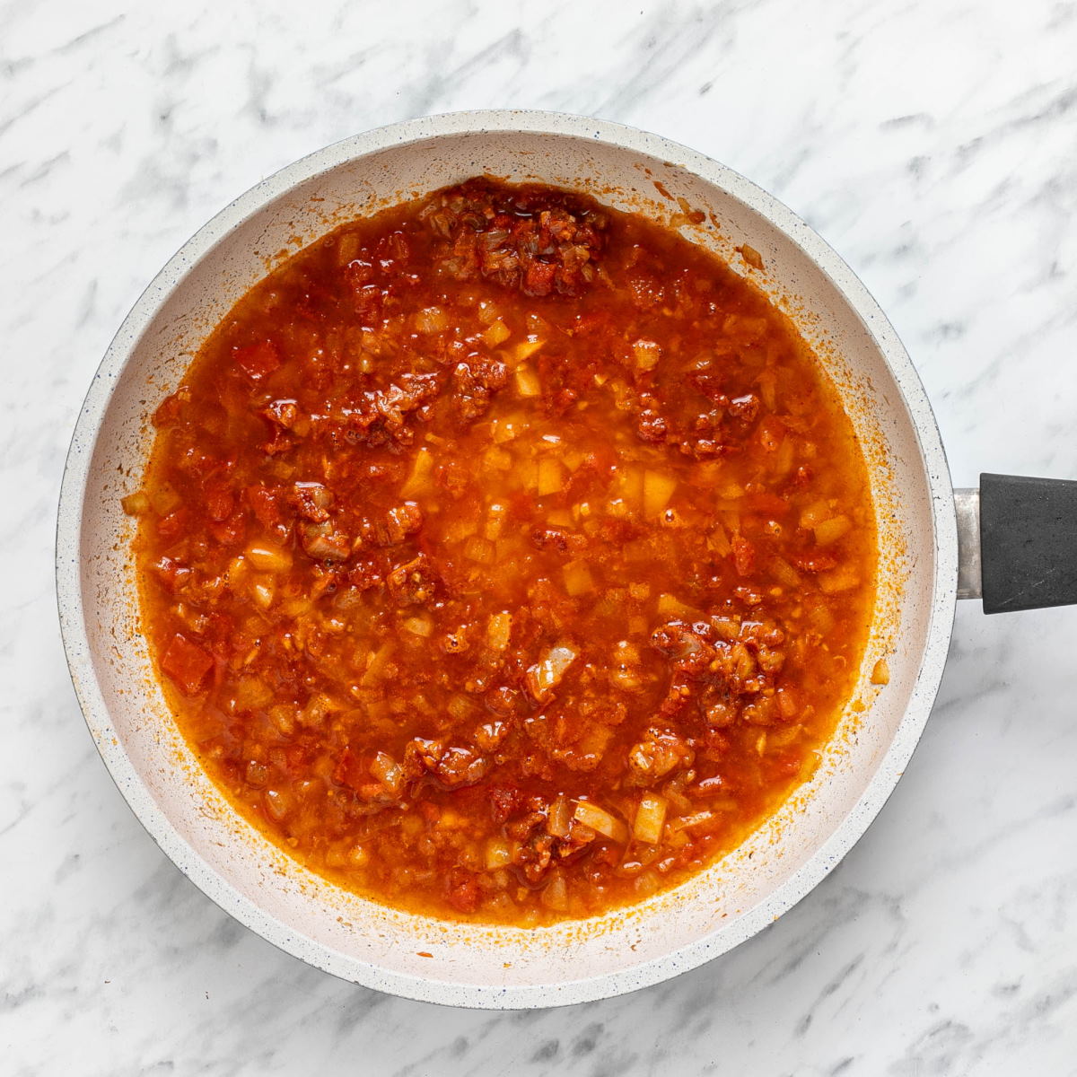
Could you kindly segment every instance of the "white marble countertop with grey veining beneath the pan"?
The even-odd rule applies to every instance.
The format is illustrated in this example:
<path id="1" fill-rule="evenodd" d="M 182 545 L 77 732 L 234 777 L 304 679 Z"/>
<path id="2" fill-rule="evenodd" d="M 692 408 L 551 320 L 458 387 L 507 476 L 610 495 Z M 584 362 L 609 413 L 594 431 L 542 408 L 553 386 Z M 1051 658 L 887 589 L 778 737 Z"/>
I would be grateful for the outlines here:
<path id="1" fill-rule="evenodd" d="M 68 437 L 139 291 L 288 162 L 428 112 L 659 131 L 769 188 L 890 313 L 954 481 L 1077 477 L 1077 5 L 430 0 L 0 15 L 0 1071 L 1077 1073 L 1077 610 L 959 611 L 911 766 L 728 956 L 543 1012 L 375 994 L 229 920 L 116 792 L 53 598 Z"/>

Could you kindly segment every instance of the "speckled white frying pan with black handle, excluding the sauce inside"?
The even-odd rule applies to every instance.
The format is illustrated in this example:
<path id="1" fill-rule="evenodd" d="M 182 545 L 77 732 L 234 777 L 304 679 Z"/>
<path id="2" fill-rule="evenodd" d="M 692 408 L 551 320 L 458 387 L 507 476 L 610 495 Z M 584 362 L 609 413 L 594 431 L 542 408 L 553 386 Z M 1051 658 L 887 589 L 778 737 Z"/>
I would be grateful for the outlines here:
<path id="1" fill-rule="evenodd" d="M 668 893 L 585 921 L 454 924 L 348 894 L 284 855 L 216 791 L 156 683 L 138 618 L 132 523 L 149 417 L 200 342 L 268 269 L 326 230 L 489 172 L 585 191 L 677 227 L 793 319 L 864 447 L 880 570 L 863 672 L 810 782 L 739 849 Z M 699 220 L 702 211 L 702 223 Z M 690 220 L 689 220 L 690 216 Z M 753 268 L 742 249 L 761 255 Z M 757 260 L 753 256 L 753 263 Z M 165 266 L 112 341 L 79 416 L 60 495 L 56 577 L 68 663 L 120 791 L 222 908 L 336 976 L 430 1002 L 555 1006 L 656 983 L 724 953 L 849 851 L 931 712 L 959 595 L 987 612 L 1077 601 L 1077 482 L 983 476 L 951 489 L 931 406 L 890 322 L 829 247 L 736 172 L 655 135 L 578 116 L 470 112 L 386 127 L 263 181 Z M 1066 555 L 1063 557 L 1063 553 Z M 885 658 L 890 682 L 870 683 Z"/>

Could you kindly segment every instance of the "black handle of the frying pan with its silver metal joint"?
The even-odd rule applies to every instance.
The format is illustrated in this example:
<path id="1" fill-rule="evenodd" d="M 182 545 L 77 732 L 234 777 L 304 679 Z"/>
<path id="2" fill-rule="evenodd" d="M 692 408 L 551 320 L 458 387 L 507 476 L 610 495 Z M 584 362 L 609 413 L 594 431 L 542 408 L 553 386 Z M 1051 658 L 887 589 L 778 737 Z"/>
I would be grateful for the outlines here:
<path id="1" fill-rule="evenodd" d="M 984 613 L 1077 603 L 1077 482 L 984 474 L 954 501 L 959 598 Z"/>

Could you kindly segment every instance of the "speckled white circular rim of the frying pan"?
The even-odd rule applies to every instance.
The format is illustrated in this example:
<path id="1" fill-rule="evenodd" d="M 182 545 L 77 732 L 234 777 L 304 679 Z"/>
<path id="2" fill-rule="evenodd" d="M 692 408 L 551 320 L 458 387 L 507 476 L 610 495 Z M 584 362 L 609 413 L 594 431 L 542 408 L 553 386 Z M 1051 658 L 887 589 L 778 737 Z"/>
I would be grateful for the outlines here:
<path id="1" fill-rule="evenodd" d="M 811 260 L 864 322 L 890 368 L 912 419 L 932 500 L 935 543 L 923 661 L 900 724 L 854 809 L 810 858 L 755 908 L 719 933 L 711 933 L 645 963 L 561 983 L 503 987 L 460 983 L 372 965 L 297 936 L 239 893 L 206 864 L 157 806 L 127 756 L 98 684 L 87 638 L 81 583 L 82 520 L 89 465 L 98 431 L 129 354 L 156 311 L 202 256 L 265 205 L 312 177 L 390 146 L 474 131 L 548 134 L 586 138 L 676 162 L 745 204 Z M 695 968 L 757 934 L 817 885 L 859 840 L 893 792 L 931 713 L 942 676 L 956 599 L 957 541 L 949 468 L 934 412 L 919 375 L 878 303 L 840 256 L 792 210 L 737 172 L 658 135 L 564 113 L 524 110 L 453 112 L 392 124 L 352 136 L 274 173 L 215 214 L 154 277 L 110 344 L 79 414 L 60 489 L 56 532 L 56 587 L 68 668 L 98 751 L 136 816 L 165 854 L 192 881 L 246 926 L 278 948 L 344 979 L 407 998 L 482 1009 L 516 1009 L 591 1002 L 658 983 Z M 90 718 L 93 717 L 93 721 Z"/>

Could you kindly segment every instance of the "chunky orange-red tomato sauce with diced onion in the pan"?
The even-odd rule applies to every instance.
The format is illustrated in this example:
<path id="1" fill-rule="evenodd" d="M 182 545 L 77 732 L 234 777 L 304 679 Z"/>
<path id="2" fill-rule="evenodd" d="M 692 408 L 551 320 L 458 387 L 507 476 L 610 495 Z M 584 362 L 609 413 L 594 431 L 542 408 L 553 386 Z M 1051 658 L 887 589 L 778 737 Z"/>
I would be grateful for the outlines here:
<path id="1" fill-rule="evenodd" d="M 179 725 L 292 856 L 538 924 L 809 777 L 863 657 L 859 447 L 788 320 L 642 218 L 476 179 L 240 299 L 155 414 L 136 557 Z"/>

